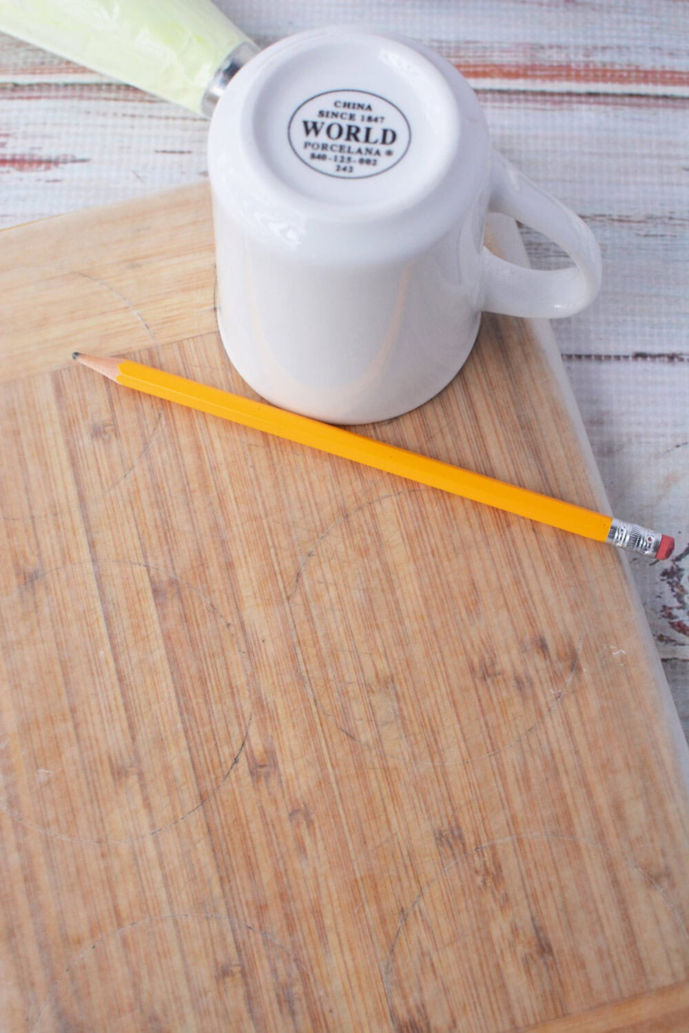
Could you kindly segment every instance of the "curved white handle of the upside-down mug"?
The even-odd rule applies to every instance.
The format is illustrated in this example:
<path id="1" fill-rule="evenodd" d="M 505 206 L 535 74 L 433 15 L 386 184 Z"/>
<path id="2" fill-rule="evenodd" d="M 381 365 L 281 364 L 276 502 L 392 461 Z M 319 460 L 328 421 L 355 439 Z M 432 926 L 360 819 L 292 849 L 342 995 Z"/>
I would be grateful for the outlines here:
<path id="1" fill-rule="evenodd" d="M 566 269 L 514 265 L 483 248 L 479 308 L 510 316 L 562 319 L 600 289 L 600 250 L 578 216 L 494 152 L 489 211 L 509 215 L 554 241 L 574 262 Z"/>

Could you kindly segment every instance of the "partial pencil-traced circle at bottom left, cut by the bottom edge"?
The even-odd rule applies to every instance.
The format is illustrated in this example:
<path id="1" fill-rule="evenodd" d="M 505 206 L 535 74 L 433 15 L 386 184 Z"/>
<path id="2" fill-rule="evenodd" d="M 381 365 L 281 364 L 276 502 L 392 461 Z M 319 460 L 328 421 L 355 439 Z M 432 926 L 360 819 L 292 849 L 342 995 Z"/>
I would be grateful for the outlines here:
<path id="1" fill-rule="evenodd" d="M 247 982 L 261 988 L 249 998 Z M 306 1030 L 324 1021 L 307 966 L 229 915 L 144 918 L 89 944 L 55 980 L 30 1029 Z"/>

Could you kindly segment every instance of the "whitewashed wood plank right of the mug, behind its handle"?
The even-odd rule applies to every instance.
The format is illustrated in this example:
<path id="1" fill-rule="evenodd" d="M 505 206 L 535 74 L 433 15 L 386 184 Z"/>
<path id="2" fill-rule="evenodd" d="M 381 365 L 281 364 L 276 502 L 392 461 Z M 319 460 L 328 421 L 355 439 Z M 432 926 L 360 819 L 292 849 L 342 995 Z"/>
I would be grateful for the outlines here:
<path id="1" fill-rule="evenodd" d="M 603 287 L 557 325 L 563 351 L 689 354 L 689 102 L 481 94 L 498 147 L 584 216 Z M 534 264 L 556 249 L 529 238 Z"/>

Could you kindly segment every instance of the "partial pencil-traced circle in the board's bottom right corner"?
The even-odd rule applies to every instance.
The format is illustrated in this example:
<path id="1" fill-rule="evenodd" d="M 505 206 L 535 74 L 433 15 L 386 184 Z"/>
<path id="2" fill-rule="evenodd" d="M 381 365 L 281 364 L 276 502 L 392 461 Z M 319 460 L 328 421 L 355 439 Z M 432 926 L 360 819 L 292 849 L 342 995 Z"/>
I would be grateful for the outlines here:
<path id="1" fill-rule="evenodd" d="M 604 844 L 539 833 L 481 844 L 402 911 L 384 971 L 393 1028 L 427 1029 L 432 1012 L 434 1033 L 526 1029 L 607 1003 L 610 985 L 620 999 L 652 989 L 648 972 L 674 983 L 689 956 L 659 962 L 657 945 L 677 942 L 678 922 L 661 886 Z"/>

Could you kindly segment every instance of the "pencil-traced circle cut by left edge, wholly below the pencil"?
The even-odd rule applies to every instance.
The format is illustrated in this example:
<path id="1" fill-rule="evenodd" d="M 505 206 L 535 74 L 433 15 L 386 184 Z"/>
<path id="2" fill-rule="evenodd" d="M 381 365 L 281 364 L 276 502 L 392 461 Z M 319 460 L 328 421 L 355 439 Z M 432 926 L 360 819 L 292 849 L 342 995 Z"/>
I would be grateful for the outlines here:
<path id="1" fill-rule="evenodd" d="M 201 807 L 237 764 L 252 671 L 227 619 L 169 571 L 77 563 L 0 599 L 0 807 L 38 832 L 118 843 Z"/>

